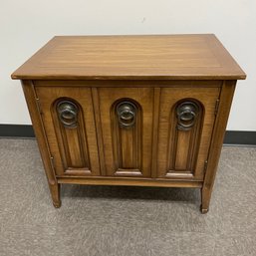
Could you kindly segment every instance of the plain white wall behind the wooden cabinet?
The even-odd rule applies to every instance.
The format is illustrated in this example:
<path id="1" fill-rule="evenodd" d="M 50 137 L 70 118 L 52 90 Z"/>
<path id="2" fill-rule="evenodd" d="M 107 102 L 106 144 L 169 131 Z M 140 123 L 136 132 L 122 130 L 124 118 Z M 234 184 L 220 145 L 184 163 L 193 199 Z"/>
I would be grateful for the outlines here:
<path id="1" fill-rule="evenodd" d="M 10 74 L 55 35 L 214 33 L 247 73 L 228 129 L 256 130 L 256 1 L 0 0 L 0 124 L 31 124 Z"/>

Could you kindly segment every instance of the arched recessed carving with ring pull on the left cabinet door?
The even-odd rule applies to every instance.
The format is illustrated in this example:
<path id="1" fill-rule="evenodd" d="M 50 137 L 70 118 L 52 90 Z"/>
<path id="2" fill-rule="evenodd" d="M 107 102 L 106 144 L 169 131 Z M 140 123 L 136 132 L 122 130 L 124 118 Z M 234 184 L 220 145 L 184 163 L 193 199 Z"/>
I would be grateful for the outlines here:
<path id="1" fill-rule="evenodd" d="M 52 116 L 66 173 L 90 174 L 91 164 L 82 107 L 73 99 L 57 99 L 52 106 Z"/>

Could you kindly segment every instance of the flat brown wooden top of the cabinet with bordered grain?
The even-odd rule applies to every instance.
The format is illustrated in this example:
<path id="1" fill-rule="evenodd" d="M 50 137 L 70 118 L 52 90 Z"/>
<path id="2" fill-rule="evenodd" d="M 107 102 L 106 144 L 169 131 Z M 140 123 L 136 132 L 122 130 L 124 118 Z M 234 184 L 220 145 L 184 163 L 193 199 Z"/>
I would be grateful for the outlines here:
<path id="1" fill-rule="evenodd" d="M 245 78 L 212 34 L 58 36 L 12 74 L 23 80 Z"/>

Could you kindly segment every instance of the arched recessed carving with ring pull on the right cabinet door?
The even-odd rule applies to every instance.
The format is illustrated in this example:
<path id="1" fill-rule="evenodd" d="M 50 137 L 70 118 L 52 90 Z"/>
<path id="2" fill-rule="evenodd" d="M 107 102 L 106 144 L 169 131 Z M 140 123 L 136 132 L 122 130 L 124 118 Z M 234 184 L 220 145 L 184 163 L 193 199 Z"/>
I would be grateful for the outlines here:
<path id="1" fill-rule="evenodd" d="M 194 99 L 178 101 L 170 111 L 169 173 L 193 173 L 201 136 L 204 108 Z"/>

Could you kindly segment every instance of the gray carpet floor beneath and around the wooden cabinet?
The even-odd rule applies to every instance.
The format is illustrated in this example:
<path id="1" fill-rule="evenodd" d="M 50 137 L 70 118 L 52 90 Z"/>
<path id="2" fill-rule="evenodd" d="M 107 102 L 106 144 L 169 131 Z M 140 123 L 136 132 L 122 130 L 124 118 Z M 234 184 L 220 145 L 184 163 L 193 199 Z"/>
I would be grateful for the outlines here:
<path id="1" fill-rule="evenodd" d="M 198 189 L 62 186 L 34 139 L 0 139 L 0 256 L 256 255 L 256 148 L 222 149 L 210 211 Z"/>

